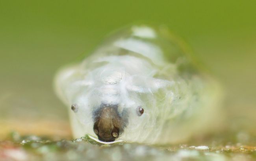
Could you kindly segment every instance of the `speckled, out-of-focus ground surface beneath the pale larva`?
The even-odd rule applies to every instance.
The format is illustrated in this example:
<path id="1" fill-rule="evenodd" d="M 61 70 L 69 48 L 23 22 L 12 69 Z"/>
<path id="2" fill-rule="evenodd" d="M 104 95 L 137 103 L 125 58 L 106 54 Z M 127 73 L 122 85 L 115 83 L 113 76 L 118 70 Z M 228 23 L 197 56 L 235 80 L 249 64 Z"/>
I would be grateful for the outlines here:
<path id="1" fill-rule="evenodd" d="M 87 135 L 75 140 L 20 136 L 13 132 L 0 142 L 0 161 L 254 161 L 255 137 L 238 132 L 193 139 L 180 145 L 116 143 L 101 145 Z M 202 144 L 204 143 L 204 144 Z"/>

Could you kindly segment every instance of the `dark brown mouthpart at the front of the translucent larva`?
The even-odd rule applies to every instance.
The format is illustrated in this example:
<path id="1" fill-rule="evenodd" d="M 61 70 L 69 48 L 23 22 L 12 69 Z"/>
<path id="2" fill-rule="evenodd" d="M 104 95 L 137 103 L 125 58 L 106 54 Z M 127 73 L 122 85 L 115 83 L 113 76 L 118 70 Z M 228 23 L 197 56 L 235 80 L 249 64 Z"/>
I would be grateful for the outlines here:
<path id="1" fill-rule="evenodd" d="M 101 104 L 94 112 L 93 131 L 98 139 L 105 142 L 115 141 L 127 124 L 127 115 L 120 115 L 118 105 Z"/>

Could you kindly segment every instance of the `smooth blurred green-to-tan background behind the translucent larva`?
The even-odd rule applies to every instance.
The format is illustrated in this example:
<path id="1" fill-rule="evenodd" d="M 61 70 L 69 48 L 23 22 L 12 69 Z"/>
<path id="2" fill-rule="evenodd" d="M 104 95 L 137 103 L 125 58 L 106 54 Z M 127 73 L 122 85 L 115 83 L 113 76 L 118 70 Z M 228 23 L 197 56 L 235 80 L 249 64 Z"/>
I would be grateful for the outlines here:
<path id="1" fill-rule="evenodd" d="M 0 136 L 11 129 L 69 135 L 67 109 L 52 88 L 56 70 L 141 21 L 184 38 L 223 83 L 224 124 L 255 134 L 255 8 L 255 0 L 0 0 Z"/>

